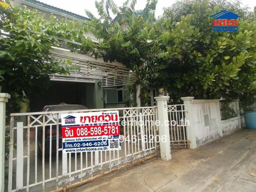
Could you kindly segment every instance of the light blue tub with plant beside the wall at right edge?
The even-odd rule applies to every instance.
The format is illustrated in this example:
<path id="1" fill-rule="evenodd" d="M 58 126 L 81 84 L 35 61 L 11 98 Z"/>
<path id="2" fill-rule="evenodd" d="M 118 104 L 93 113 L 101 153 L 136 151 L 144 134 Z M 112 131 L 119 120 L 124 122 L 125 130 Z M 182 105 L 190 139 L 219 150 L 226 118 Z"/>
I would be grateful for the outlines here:
<path id="1" fill-rule="evenodd" d="M 243 118 L 248 129 L 256 129 L 256 111 L 252 104 L 247 103 L 243 107 Z"/>

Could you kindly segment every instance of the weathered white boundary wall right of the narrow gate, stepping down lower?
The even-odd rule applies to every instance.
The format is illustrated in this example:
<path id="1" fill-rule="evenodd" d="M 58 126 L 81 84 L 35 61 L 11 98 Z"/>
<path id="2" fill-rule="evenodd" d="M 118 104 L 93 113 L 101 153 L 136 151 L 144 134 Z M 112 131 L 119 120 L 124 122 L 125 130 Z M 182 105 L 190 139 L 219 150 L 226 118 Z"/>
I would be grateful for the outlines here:
<path id="1" fill-rule="evenodd" d="M 190 148 L 196 148 L 241 128 L 240 116 L 221 120 L 219 99 L 193 99 L 191 96 L 181 99 L 186 105 L 187 120 L 190 123 L 188 126 Z M 236 106 L 238 107 L 238 104 Z"/>

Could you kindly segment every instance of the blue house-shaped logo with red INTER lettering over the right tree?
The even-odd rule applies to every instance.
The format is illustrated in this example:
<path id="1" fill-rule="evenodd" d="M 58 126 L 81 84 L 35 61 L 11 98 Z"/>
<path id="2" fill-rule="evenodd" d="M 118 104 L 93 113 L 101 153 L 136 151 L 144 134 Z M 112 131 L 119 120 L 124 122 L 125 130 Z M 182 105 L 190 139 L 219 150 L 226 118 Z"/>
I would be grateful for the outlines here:
<path id="1" fill-rule="evenodd" d="M 213 31 L 237 31 L 238 29 L 237 18 L 240 16 L 229 10 L 221 10 L 210 17 L 213 18 Z"/>

